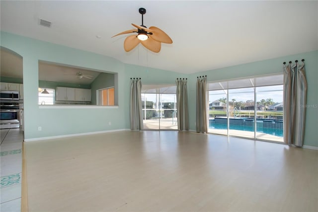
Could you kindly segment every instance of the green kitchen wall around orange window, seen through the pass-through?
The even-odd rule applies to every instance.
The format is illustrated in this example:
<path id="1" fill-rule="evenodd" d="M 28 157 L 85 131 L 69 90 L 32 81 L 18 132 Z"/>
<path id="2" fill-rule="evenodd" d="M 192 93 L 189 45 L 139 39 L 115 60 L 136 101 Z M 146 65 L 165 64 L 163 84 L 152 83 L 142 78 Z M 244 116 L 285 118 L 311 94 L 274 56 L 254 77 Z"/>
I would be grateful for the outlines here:
<path id="1" fill-rule="evenodd" d="M 100 73 L 96 79 L 90 84 L 91 86 L 91 104 L 96 104 L 96 90 L 114 87 L 115 86 L 115 75 L 109 73 Z M 116 88 L 117 89 L 117 88 Z M 115 102 L 115 105 L 116 102 Z"/>

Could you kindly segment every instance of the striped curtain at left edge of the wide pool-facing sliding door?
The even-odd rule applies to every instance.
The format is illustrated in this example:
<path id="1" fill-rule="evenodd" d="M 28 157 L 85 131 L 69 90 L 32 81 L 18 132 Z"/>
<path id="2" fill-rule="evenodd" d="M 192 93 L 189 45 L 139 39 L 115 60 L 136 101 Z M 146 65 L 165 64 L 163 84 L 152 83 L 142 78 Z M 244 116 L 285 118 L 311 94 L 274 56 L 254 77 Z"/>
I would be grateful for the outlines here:
<path id="1" fill-rule="evenodd" d="M 207 78 L 197 78 L 197 117 L 196 131 L 201 133 L 208 132 L 207 124 Z"/>

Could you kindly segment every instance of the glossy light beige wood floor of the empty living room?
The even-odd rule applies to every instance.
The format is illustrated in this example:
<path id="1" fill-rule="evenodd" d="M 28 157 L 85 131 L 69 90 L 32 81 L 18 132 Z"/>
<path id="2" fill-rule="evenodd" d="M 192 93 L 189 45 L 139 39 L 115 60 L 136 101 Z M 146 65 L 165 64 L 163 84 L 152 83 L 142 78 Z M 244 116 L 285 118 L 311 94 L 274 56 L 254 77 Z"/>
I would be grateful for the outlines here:
<path id="1" fill-rule="evenodd" d="M 27 142 L 29 212 L 318 211 L 318 151 L 177 131 Z"/>

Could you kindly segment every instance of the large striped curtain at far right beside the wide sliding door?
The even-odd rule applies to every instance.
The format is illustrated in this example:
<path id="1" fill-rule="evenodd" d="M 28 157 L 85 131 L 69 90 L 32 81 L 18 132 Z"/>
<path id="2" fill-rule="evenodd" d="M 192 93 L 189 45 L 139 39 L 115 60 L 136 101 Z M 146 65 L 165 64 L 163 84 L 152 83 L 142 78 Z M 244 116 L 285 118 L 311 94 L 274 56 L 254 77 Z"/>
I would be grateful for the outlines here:
<path id="1" fill-rule="evenodd" d="M 283 66 L 284 70 L 284 142 L 303 146 L 307 81 L 305 63 Z"/>

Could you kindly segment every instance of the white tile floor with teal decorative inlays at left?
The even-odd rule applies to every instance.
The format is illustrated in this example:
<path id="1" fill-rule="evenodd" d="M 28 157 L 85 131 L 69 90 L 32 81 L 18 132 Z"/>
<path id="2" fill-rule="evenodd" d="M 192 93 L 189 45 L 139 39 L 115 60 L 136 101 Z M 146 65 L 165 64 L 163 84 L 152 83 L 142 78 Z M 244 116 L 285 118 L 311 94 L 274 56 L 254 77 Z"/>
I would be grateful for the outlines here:
<path id="1" fill-rule="evenodd" d="M 21 211 L 22 141 L 19 128 L 1 129 L 1 212 Z"/>

